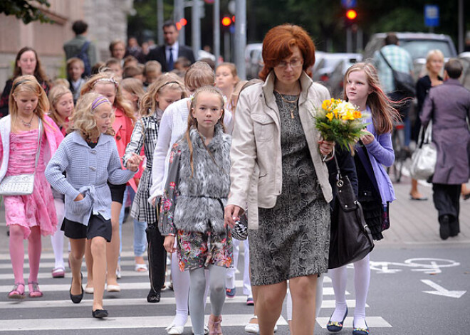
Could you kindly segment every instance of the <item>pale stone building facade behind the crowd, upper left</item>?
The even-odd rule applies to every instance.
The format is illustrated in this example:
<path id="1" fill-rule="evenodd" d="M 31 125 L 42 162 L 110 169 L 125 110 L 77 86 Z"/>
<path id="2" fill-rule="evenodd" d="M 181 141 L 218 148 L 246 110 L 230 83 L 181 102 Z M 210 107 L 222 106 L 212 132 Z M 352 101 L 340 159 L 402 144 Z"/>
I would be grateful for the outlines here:
<path id="1" fill-rule="evenodd" d="M 36 50 L 43 68 L 51 79 L 63 78 L 65 53 L 63 43 L 73 38 L 72 23 L 88 23 L 87 37 L 98 49 L 98 60 L 109 57 L 110 41 L 126 40 L 127 15 L 133 0 L 48 0 L 43 10 L 54 23 L 31 22 L 25 25 L 16 16 L 0 14 L 0 90 L 13 75 L 16 53 L 29 46 Z"/>

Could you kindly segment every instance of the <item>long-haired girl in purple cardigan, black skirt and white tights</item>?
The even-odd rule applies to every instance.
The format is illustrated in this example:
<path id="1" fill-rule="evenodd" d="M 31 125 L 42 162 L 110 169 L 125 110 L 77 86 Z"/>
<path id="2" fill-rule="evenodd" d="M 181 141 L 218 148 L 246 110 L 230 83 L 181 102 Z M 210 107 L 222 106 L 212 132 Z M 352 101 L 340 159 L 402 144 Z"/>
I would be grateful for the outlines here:
<path id="1" fill-rule="evenodd" d="M 375 240 L 381 240 L 382 230 L 389 223 L 389 204 L 395 200 L 395 191 L 383 166 L 391 166 L 395 160 L 392 149 L 392 125 L 398 112 L 392 107 L 379 85 L 377 70 L 370 63 L 352 65 L 344 78 L 344 100 L 367 115 L 369 122 L 360 134 L 355 146 L 355 166 L 357 170 L 358 196 L 364 211 L 365 221 Z M 344 103 L 346 103 L 344 102 Z M 328 105 L 328 102 L 325 102 Z M 354 117 L 346 108 L 343 119 Z M 359 116 L 358 112 L 356 116 Z M 335 111 L 333 110 L 333 117 Z M 354 309 L 353 335 L 367 335 L 369 329 L 365 321 L 365 303 L 370 282 L 369 255 L 354 262 L 356 306 Z M 330 270 L 335 291 L 335 311 L 330 317 L 327 329 L 340 331 L 348 315 L 345 299 L 346 266 Z"/>

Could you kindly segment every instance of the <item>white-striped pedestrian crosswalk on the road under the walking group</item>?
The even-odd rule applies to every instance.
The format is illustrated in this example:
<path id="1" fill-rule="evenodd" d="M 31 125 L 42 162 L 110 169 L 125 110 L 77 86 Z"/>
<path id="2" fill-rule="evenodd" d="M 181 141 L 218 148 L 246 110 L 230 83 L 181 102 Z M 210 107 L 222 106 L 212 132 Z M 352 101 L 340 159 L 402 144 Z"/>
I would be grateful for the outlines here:
<path id="1" fill-rule="evenodd" d="M 241 253 L 243 257 L 243 253 Z M 240 260 L 239 265 L 243 265 Z M 85 294 L 80 304 L 73 304 L 68 296 L 71 274 L 68 269 L 65 278 L 52 278 L 52 253 L 43 253 L 38 282 L 44 296 L 40 299 L 26 297 L 23 301 L 7 299 L 6 294 L 13 286 L 13 274 L 8 255 L 0 255 L 0 334 L 166 334 L 164 328 L 174 317 L 174 294 L 171 290 L 162 292 L 158 304 L 147 302 L 150 289 L 147 272 L 135 272 L 132 252 L 123 252 L 121 258 L 122 279 L 119 281 L 120 293 L 105 292 L 104 307 L 110 312 L 105 320 L 93 319 L 91 307 L 92 294 Z M 28 262 L 25 260 L 25 279 L 28 278 Z M 237 272 L 237 279 L 241 273 Z M 83 277 L 86 268 L 83 266 Z M 242 291 L 242 281 L 236 280 L 238 292 Z M 26 288 L 26 294 L 28 290 Z M 346 292 L 348 307 L 355 307 L 355 300 L 350 292 Z M 318 318 L 315 334 L 328 334 L 322 330 L 328 323 L 329 316 L 335 307 L 333 287 L 328 276 L 324 280 L 323 304 Z M 367 306 L 368 307 L 368 306 Z M 288 323 L 283 317 L 278 320 L 277 334 L 289 334 Z M 223 314 L 224 334 L 246 334 L 244 326 L 253 316 L 253 307 L 246 305 L 246 297 L 236 295 L 234 299 L 226 299 Z M 208 299 L 206 314 L 210 313 Z M 350 314 L 352 315 L 352 314 Z M 374 328 L 388 328 L 391 325 L 382 317 L 369 316 L 367 324 Z M 352 327 L 352 317 L 345 320 L 345 328 Z M 120 329 L 120 330 L 119 330 Z M 119 330 L 119 331 L 118 331 Z M 103 333 L 103 331 L 105 331 Z M 320 332 L 318 332 L 320 331 Z M 191 333 L 191 320 L 188 318 L 184 334 Z"/>

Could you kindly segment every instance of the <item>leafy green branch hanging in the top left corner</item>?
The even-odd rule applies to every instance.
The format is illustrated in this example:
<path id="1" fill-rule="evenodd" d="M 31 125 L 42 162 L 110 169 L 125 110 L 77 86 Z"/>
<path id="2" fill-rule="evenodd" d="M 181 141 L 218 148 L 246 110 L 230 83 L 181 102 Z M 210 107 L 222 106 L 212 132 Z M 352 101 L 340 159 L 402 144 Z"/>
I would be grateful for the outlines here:
<path id="1" fill-rule="evenodd" d="M 32 21 L 40 21 L 42 23 L 53 23 L 51 18 L 48 18 L 46 14 L 44 14 L 41 9 L 38 9 L 31 3 L 37 2 L 36 6 L 38 5 L 45 5 L 50 7 L 51 4 L 47 0 L 1 0 L 0 1 L 0 13 L 4 13 L 5 15 L 14 15 L 17 18 L 21 18 L 21 20 L 28 24 Z"/>

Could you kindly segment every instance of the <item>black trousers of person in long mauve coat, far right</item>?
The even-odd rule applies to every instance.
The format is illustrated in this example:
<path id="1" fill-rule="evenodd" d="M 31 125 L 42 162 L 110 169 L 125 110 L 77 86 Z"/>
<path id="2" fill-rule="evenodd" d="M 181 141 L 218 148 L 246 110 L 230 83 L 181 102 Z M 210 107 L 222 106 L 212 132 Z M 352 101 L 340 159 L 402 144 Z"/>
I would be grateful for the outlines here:
<path id="1" fill-rule="evenodd" d="M 432 191 L 432 200 L 439 215 L 439 222 L 442 216 L 449 216 L 451 230 L 459 233 L 461 184 L 432 184 Z"/>

